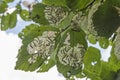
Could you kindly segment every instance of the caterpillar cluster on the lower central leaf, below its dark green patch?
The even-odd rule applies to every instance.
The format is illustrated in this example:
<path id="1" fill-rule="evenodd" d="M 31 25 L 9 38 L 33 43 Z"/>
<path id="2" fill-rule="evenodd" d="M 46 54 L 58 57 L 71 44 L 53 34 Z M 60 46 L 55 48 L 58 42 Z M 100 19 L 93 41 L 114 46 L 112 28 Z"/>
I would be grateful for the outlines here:
<path id="1" fill-rule="evenodd" d="M 79 68 L 82 66 L 84 52 L 83 45 L 78 44 L 75 47 L 65 45 L 60 48 L 57 57 L 62 64 Z"/>

